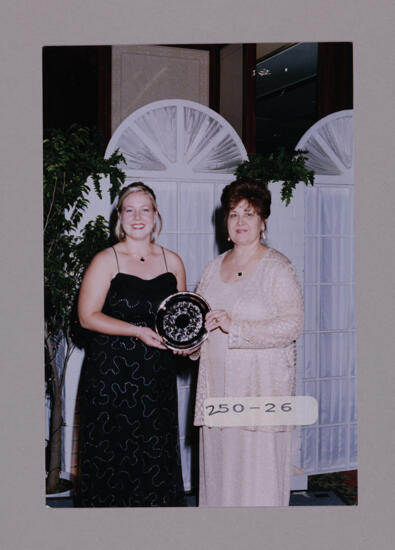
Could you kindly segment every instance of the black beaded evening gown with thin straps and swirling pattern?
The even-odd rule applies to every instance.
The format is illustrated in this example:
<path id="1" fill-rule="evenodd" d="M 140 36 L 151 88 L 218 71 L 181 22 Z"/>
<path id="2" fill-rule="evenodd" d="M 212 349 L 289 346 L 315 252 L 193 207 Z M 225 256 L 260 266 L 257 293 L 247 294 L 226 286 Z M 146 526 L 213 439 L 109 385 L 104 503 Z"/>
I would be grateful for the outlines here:
<path id="1" fill-rule="evenodd" d="M 173 273 L 149 280 L 118 273 L 102 311 L 154 328 L 159 303 L 174 292 Z M 178 436 L 172 353 L 92 334 L 80 382 L 75 506 L 182 506 Z"/>

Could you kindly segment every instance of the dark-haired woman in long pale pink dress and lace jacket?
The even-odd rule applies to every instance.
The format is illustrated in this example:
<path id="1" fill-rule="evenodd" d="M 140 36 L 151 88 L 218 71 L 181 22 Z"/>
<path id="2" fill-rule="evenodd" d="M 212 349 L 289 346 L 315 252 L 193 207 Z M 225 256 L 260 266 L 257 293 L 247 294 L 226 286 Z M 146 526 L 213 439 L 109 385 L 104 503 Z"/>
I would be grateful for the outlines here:
<path id="1" fill-rule="evenodd" d="M 201 427 L 199 506 L 287 506 L 292 427 L 204 425 L 208 397 L 294 395 L 295 340 L 303 325 L 295 269 L 262 243 L 269 190 L 235 181 L 221 202 L 233 248 L 206 266 L 197 290 L 212 308 L 195 410 Z"/>

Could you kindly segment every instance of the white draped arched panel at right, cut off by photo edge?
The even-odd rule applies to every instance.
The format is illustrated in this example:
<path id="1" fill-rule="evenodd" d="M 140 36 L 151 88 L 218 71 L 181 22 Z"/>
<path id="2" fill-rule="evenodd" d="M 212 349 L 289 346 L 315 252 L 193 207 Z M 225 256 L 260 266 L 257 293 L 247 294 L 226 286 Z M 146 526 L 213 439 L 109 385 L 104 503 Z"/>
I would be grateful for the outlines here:
<path id="1" fill-rule="evenodd" d="M 302 469 L 357 466 L 352 111 L 315 124 L 297 148 L 316 173 L 305 190 L 304 393 L 318 422 L 302 428 Z"/>

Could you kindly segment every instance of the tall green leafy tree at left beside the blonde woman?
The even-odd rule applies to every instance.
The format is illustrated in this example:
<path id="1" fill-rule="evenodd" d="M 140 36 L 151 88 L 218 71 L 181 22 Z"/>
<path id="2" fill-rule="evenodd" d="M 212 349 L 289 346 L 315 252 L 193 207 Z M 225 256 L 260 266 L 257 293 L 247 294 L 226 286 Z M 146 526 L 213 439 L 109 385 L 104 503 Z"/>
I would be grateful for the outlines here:
<path id="1" fill-rule="evenodd" d="M 44 159 L 44 308 L 46 392 L 51 400 L 47 493 L 59 487 L 62 451 L 62 394 L 67 364 L 75 347 L 75 304 L 83 272 L 96 252 L 108 246 L 108 222 L 98 216 L 78 231 L 92 182 L 101 198 L 102 178 L 109 177 L 114 200 L 125 174 L 117 151 L 100 153 L 100 138 L 88 128 L 49 130 Z"/>

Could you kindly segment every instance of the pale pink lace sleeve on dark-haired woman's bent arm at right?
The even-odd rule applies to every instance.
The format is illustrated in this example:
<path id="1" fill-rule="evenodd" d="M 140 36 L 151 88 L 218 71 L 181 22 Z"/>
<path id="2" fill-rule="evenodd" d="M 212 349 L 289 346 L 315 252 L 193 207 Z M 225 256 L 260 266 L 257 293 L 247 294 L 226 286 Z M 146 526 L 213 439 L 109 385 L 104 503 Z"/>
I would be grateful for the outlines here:
<path id="1" fill-rule="evenodd" d="M 232 321 L 229 348 L 282 348 L 300 335 L 303 328 L 302 290 L 292 265 L 281 266 L 272 293 L 276 316 L 262 321 Z"/>

